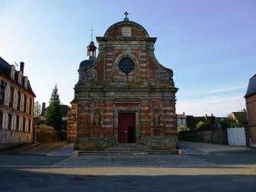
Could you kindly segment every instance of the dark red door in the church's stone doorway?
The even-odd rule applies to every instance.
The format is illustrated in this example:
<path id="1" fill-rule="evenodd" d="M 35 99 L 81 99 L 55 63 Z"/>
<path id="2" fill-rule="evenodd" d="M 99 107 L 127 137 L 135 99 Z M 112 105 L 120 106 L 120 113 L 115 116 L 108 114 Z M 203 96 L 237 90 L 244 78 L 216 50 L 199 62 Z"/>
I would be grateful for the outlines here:
<path id="1" fill-rule="evenodd" d="M 118 142 L 129 142 L 131 134 L 129 129 L 135 129 L 135 113 L 120 113 L 118 114 Z M 135 137 L 136 134 L 133 134 Z M 135 138 L 133 138 L 135 141 Z"/>

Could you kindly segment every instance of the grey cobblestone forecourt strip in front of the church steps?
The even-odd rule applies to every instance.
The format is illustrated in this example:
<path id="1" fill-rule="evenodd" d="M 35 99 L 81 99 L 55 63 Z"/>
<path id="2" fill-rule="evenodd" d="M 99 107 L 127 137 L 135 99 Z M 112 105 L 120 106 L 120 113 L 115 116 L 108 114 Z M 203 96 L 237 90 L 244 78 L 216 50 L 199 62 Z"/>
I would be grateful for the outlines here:
<path id="1" fill-rule="evenodd" d="M 54 167 L 97 167 L 97 166 L 136 166 L 136 167 L 203 167 L 214 166 L 202 158 L 190 155 L 83 155 L 66 158 Z"/>

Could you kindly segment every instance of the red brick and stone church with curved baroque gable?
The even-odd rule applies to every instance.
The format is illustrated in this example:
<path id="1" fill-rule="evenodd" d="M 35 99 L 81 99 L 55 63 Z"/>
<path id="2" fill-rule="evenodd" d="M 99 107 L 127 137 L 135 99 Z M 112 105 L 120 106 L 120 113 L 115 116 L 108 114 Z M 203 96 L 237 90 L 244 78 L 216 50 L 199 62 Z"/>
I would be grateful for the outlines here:
<path id="1" fill-rule="evenodd" d="M 176 149 L 173 72 L 155 58 L 156 37 L 127 18 L 87 46 L 68 118 L 76 149 L 102 150 L 119 143 Z"/>

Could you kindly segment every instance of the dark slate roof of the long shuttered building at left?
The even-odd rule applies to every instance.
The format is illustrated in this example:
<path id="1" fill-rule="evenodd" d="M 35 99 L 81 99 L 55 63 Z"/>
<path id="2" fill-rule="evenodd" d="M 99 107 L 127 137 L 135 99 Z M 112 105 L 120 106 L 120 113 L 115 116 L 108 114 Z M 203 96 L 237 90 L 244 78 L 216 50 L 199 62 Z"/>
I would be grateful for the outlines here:
<path id="1" fill-rule="evenodd" d="M 2 75 L 5 75 L 6 78 L 8 78 L 10 81 L 14 81 L 16 82 L 16 84 L 18 85 L 18 71 L 15 70 L 15 75 L 14 75 L 14 80 L 11 78 L 11 65 L 5 61 L 5 59 L 2 59 L 2 57 L 0 56 L 0 73 L 2 73 Z M 22 77 L 22 82 L 24 85 L 24 78 L 25 76 Z M 21 86 L 21 85 L 19 85 Z M 22 88 L 26 89 L 28 92 L 30 92 L 30 94 L 33 94 L 34 97 L 36 97 L 36 94 L 34 94 L 34 91 L 31 88 L 30 82 L 27 82 L 27 88 L 25 88 L 24 86 L 21 86 Z"/>

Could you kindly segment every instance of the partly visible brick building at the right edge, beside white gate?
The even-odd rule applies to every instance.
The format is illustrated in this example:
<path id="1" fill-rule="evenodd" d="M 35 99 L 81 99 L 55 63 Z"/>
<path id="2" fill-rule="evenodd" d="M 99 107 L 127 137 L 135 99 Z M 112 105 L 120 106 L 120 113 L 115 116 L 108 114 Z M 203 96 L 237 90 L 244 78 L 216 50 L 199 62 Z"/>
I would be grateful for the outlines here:
<path id="1" fill-rule="evenodd" d="M 251 139 L 251 146 L 256 147 L 256 74 L 250 78 L 245 101 L 248 114 L 248 136 Z"/>

